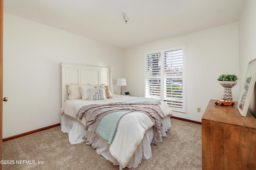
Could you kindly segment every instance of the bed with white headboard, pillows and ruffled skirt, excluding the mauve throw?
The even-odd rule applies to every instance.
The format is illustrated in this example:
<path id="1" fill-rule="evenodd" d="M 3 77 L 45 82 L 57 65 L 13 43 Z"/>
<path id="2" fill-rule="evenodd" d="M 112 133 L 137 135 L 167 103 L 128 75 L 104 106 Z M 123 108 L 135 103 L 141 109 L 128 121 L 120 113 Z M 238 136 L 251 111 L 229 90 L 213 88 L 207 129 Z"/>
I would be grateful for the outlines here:
<path id="1" fill-rule="evenodd" d="M 78 111 L 82 107 L 94 104 L 103 106 L 116 102 L 134 104 L 134 102 L 144 101 L 145 98 L 112 94 L 112 68 L 66 63 L 60 63 L 60 65 L 62 90 L 60 122 L 61 130 L 68 133 L 69 143 L 85 142 L 91 145 L 98 154 L 113 162 L 114 165 L 118 165 L 120 170 L 125 167 L 136 168 L 142 159 L 150 158 L 152 156 L 151 143 L 162 142 L 162 137 L 166 137 L 166 132 L 171 127 L 172 111 L 166 102 L 158 101 L 164 113 L 161 119 L 160 134 L 156 135 L 156 123 L 153 123 L 147 114 L 140 111 L 128 113 L 121 111 L 123 115 L 117 123 L 115 122 L 117 125 L 114 134 L 110 134 L 110 137 L 100 136 L 98 135 L 100 130 L 97 131 L 97 129 L 100 127 L 108 129 L 112 122 L 106 123 L 107 119 L 103 121 L 102 118 L 94 132 L 86 126 L 88 122 L 85 117 L 78 117 Z M 95 90 L 102 88 L 105 94 L 102 99 L 101 96 L 92 95 L 96 94 Z M 97 97 L 96 100 L 95 97 Z M 154 99 L 146 100 L 157 102 Z"/>

